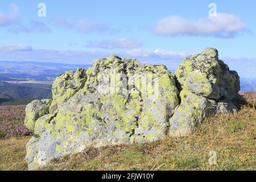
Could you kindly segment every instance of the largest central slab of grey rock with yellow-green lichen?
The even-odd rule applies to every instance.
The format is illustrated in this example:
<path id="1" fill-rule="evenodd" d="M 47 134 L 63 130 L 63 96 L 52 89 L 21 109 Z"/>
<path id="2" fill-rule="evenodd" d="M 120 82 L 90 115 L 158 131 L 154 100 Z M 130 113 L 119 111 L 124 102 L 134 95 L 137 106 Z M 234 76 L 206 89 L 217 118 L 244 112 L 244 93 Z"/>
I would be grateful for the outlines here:
<path id="1" fill-rule="evenodd" d="M 36 118 L 26 146 L 30 169 L 88 146 L 160 139 L 179 105 L 175 76 L 164 65 L 118 56 L 63 73 L 52 90 L 49 112 Z"/>

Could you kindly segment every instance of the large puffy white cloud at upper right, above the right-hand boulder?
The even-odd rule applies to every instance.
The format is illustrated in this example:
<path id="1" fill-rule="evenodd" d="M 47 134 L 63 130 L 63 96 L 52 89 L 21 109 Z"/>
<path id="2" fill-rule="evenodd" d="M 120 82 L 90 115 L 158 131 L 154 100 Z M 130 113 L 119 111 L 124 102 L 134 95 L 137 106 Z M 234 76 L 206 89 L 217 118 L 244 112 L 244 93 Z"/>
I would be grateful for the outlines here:
<path id="1" fill-rule="evenodd" d="M 155 32 L 160 35 L 216 36 L 232 38 L 246 30 L 242 20 L 233 14 L 218 13 L 197 20 L 168 16 L 158 20 Z"/>

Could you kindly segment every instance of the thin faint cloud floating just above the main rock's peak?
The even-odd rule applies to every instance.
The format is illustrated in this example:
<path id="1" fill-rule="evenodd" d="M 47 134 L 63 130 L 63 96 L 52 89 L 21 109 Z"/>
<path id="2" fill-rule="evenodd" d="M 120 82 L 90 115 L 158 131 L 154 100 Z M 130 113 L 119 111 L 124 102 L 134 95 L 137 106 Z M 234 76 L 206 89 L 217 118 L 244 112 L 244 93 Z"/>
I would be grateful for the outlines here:
<path id="1" fill-rule="evenodd" d="M 97 48 L 121 48 L 121 49 L 134 49 L 141 47 L 142 43 L 131 38 L 121 38 L 121 39 L 110 39 L 102 40 L 100 42 L 89 42 L 86 47 L 97 47 Z"/>

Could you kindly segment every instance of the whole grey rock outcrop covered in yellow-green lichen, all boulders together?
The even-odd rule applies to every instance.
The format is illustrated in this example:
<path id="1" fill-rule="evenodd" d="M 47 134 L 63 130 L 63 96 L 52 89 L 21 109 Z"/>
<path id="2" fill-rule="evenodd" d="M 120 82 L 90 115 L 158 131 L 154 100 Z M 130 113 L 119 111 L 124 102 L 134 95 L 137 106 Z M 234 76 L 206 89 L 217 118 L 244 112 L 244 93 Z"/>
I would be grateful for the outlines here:
<path id="1" fill-rule="evenodd" d="M 29 169 L 89 146 L 154 142 L 189 135 L 210 114 L 238 111 L 237 72 L 206 48 L 188 56 L 175 74 L 164 65 L 110 56 L 68 71 L 53 84 L 53 100 L 27 105 Z"/>

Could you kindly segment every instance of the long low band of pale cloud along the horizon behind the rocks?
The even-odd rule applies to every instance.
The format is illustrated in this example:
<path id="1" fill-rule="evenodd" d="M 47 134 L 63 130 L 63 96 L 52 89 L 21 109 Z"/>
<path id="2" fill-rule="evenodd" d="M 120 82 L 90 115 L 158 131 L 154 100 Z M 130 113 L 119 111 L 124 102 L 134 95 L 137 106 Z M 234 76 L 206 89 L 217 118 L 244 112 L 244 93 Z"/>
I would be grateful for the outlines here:
<path id="1" fill-rule="evenodd" d="M 34 49 L 25 44 L 0 46 L 0 61 L 38 61 L 49 63 L 92 64 L 100 57 L 118 55 L 122 58 L 138 59 L 145 64 L 164 64 L 172 72 L 179 67 L 185 53 L 176 53 L 163 49 L 155 51 L 133 49 L 130 51 L 100 51 L 88 49 L 84 51 L 59 51 L 55 49 Z M 243 78 L 256 77 L 256 59 L 221 57 L 229 65 L 230 70 L 235 70 Z"/>

